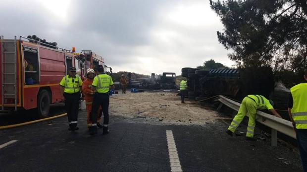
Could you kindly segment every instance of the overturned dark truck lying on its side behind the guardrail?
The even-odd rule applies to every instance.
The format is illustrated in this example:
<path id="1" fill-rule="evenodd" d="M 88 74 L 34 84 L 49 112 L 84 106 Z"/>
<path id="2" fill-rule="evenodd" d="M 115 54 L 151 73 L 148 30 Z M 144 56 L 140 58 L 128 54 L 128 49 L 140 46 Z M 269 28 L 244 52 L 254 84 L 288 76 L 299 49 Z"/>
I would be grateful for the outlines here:
<path id="1" fill-rule="evenodd" d="M 244 69 L 201 70 L 182 68 L 190 88 L 189 98 L 202 100 L 215 95 L 225 95 L 242 100 L 250 94 L 269 97 L 274 90 L 274 78 L 269 67 Z"/>

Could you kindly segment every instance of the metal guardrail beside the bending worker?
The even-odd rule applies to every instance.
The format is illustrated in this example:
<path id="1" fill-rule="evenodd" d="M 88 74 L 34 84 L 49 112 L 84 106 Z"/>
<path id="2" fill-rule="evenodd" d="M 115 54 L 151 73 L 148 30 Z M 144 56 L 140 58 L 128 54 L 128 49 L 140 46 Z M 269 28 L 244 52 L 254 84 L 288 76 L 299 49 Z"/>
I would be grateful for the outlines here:
<path id="1" fill-rule="evenodd" d="M 219 95 L 217 100 L 221 102 L 218 109 L 224 104 L 236 111 L 240 108 L 240 103 L 232 101 L 224 96 Z M 248 116 L 248 114 L 247 114 Z M 277 131 L 291 138 L 296 139 L 296 133 L 293 129 L 292 122 L 282 118 L 261 112 L 257 110 L 256 121 L 271 128 L 271 146 L 277 146 Z"/>

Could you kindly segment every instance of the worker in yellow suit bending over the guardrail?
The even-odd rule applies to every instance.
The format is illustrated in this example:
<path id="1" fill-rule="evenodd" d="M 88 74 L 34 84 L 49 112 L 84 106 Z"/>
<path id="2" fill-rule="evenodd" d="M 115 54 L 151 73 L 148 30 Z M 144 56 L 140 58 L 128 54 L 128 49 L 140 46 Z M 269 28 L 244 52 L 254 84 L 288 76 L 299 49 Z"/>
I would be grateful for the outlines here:
<path id="1" fill-rule="evenodd" d="M 254 138 L 254 130 L 256 126 L 256 112 L 258 109 L 268 109 L 273 113 L 274 116 L 281 118 L 278 112 L 276 112 L 276 110 L 273 108 L 273 105 L 273 102 L 271 100 L 267 100 L 264 96 L 248 95 L 243 99 L 239 111 L 232 120 L 226 133 L 229 136 L 232 136 L 244 119 L 245 115 L 249 113 L 249 123 L 247 126 L 246 139 L 255 141 L 256 139 Z"/>

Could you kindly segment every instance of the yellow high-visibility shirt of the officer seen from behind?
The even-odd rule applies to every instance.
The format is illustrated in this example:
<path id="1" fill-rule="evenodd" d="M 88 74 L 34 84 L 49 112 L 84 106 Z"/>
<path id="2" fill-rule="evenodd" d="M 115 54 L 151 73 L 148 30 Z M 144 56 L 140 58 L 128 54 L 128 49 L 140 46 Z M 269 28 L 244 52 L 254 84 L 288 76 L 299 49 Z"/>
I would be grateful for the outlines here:
<path id="1" fill-rule="evenodd" d="M 103 73 L 94 78 L 92 85 L 96 87 L 96 92 L 107 93 L 110 90 L 110 86 L 114 85 L 114 83 L 111 76 Z"/>

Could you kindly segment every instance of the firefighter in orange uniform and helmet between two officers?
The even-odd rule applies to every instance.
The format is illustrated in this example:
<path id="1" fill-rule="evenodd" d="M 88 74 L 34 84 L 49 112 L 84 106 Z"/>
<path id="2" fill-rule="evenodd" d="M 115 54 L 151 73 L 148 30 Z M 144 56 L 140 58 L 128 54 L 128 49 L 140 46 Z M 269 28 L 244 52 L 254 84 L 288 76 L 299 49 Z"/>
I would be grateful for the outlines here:
<path id="1" fill-rule="evenodd" d="M 82 83 L 82 91 L 85 94 L 86 110 L 88 112 L 87 116 L 88 128 L 92 126 L 92 121 L 90 120 L 90 116 L 92 111 L 93 95 L 95 94 L 95 90 L 94 91 L 92 90 L 92 83 L 95 77 L 94 73 L 95 73 L 94 69 L 87 69 L 86 70 L 87 79 Z M 100 107 L 97 118 L 97 126 L 99 128 L 102 128 L 102 125 L 100 124 L 101 116 L 102 116 L 102 108 Z"/>

